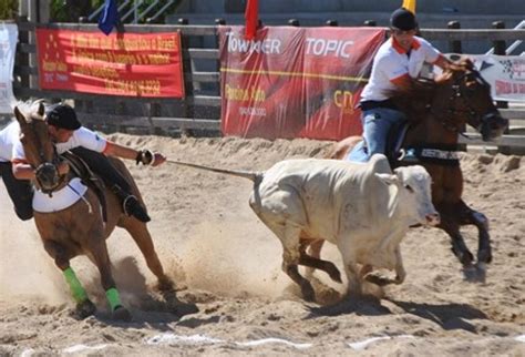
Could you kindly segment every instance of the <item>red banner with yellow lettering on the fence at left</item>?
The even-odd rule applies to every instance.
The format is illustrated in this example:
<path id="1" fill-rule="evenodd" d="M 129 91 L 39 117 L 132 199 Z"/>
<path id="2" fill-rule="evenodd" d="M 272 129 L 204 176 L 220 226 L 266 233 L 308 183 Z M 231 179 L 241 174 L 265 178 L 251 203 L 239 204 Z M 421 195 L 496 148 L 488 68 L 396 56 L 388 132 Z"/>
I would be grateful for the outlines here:
<path id="1" fill-rule="evenodd" d="M 183 98 L 179 32 L 112 33 L 37 29 L 41 89 Z"/>

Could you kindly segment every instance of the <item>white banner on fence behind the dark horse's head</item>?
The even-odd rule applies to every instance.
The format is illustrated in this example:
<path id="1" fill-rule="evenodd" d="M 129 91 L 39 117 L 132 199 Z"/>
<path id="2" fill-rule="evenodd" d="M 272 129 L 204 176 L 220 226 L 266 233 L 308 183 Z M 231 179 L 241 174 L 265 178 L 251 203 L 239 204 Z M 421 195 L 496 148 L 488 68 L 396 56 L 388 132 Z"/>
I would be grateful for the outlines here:
<path id="1" fill-rule="evenodd" d="M 465 54 L 491 84 L 492 98 L 497 101 L 525 102 L 525 57 Z M 447 54 L 456 60 L 457 54 Z"/>

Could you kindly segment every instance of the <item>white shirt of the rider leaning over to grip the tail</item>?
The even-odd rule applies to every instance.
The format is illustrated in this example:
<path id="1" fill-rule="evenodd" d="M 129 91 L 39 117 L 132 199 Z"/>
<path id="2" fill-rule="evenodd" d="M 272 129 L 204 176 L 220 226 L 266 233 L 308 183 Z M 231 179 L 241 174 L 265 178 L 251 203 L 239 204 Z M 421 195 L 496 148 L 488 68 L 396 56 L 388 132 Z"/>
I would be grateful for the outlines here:
<path id="1" fill-rule="evenodd" d="M 63 152 L 74 149 L 74 147 L 85 147 L 89 150 L 93 150 L 96 152 L 104 152 L 106 149 L 107 141 L 96 134 L 95 132 L 81 126 L 80 129 L 73 132 L 73 135 L 65 143 L 56 143 L 56 152 L 62 154 Z M 24 162 L 25 161 L 25 153 L 23 151 L 22 143 L 18 141 L 13 145 L 12 150 L 12 161 L 13 162 Z"/>

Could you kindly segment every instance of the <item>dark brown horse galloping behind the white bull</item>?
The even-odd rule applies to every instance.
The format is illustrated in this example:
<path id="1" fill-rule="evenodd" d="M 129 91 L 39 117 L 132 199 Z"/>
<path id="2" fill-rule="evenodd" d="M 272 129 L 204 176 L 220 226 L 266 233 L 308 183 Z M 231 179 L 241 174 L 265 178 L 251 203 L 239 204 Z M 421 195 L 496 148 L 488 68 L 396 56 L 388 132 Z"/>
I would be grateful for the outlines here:
<path id="1" fill-rule="evenodd" d="M 391 140 L 388 156 L 392 166 L 418 163 L 432 176 L 432 201 L 441 215 L 441 224 L 451 237 L 452 252 L 463 264 L 466 277 L 473 269 L 474 257 L 460 232 L 462 225 L 475 225 L 478 230 L 477 273 L 484 277 L 485 264 L 492 259 L 488 220 L 469 207 L 461 198 L 463 175 L 457 159 L 459 134 L 464 135 L 465 124 L 476 129 L 484 141 L 502 135 L 508 125 L 494 106 L 488 83 L 463 59 L 442 73 L 435 81 L 418 81 L 411 90 L 392 95 L 395 104 L 408 118 L 403 136 Z M 344 160 L 362 141 L 350 136 L 333 145 L 330 159 Z M 397 144 L 401 143 L 401 145 Z M 411 155 L 406 155 L 411 153 Z M 412 161 L 408 162 L 408 156 Z M 311 247 L 319 255 L 320 244 Z M 474 275 L 475 276 L 475 275 Z"/>

